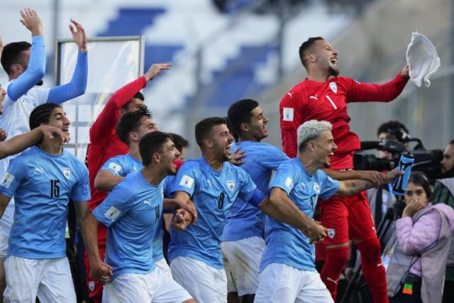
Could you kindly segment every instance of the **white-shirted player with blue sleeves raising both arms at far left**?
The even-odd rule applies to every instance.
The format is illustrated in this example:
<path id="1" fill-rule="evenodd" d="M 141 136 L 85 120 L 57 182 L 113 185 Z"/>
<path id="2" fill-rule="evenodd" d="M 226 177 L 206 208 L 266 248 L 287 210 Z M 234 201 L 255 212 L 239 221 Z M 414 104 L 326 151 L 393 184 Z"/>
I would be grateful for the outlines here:
<path id="1" fill-rule="evenodd" d="M 43 23 L 38 14 L 31 9 L 21 11 L 21 17 L 23 26 L 31 31 L 32 43 L 26 41 L 9 43 L 4 46 L 1 53 L 1 65 L 8 75 L 9 82 L 4 85 L 6 96 L 3 101 L 3 114 L 0 115 L 0 128 L 8 133 L 9 138 L 30 131 L 28 119 L 36 106 L 46 102 L 60 104 L 84 94 L 88 77 L 87 35 L 82 25 L 71 20 L 72 38 L 79 48 L 71 81 L 52 88 L 36 86 L 38 82 L 42 82 L 45 74 Z M 0 160 L 0 179 L 6 174 L 9 161 L 14 157 L 15 155 L 12 155 Z M 3 262 L 13 222 L 13 209 L 14 198 L 0 220 L 0 294 L 3 293 L 4 287 Z"/>

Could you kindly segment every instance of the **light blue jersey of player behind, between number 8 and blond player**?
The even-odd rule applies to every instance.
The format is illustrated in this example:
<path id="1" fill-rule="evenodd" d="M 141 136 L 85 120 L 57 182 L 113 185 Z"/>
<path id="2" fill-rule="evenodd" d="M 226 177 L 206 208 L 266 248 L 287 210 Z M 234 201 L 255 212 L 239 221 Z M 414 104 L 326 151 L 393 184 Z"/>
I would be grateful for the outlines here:
<path id="1" fill-rule="evenodd" d="M 268 191 L 273 170 L 277 170 L 282 162 L 289 158 L 282 150 L 267 143 L 244 141 L 235 143 L 232 150 L 240 148 L 245 151 L 243 168 L 260 192 Z M 256 207 L 236 199 L 228 213 L 227 223 L 222 233 L 222 241 L 238 241 L 253 236 L 262 237 L 264 214 Z"/>

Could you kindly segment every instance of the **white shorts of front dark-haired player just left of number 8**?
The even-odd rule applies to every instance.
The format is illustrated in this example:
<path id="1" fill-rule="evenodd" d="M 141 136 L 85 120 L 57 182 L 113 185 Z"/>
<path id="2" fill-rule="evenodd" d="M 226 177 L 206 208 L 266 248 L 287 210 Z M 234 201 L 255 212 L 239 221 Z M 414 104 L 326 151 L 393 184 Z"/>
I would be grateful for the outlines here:
<path id="1" fill-rule="evenodd" d="M 160 268 L 145 275 L 119 275 L 104 285 L 102 292 L 103 303 L 175 303 L 189 299 L 191 295 Z"/>

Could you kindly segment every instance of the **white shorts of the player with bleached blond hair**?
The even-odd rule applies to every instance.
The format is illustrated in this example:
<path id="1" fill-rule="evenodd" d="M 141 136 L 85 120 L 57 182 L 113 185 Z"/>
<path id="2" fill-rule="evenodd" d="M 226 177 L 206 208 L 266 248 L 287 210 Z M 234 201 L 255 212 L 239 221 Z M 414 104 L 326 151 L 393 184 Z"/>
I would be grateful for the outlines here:
<path id="1" fill-rule="evenodd" d="M 319 272 L 271 263 L 260 274 L 254 302 L 333 303 Z"/>

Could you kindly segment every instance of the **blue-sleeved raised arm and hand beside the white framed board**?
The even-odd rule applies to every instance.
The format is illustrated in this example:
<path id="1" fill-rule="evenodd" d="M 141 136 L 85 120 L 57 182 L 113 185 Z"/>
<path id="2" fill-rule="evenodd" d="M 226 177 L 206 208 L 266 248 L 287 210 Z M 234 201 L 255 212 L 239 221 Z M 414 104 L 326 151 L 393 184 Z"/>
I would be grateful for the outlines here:
<path id="1" fill-rule="evenodd" d="M 79 48 L 77 63 L 69 83 L 52 87 L 49 92 L 48 102 L 60 104 L 74 99 L 85 93 L 88 78 L 87 35 L 83 26 L 71 19 L 70 31 L 74 42 Z"/>

